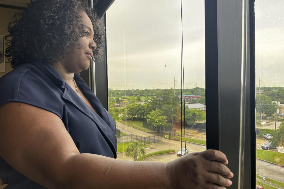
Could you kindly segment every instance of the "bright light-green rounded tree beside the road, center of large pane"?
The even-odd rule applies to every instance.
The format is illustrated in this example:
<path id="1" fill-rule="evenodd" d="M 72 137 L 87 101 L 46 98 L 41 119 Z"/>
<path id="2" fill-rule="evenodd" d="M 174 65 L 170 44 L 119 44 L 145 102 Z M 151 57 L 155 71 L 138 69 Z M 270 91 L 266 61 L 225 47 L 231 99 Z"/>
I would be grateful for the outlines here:
<path id="1" fill-rule="evenodd" d="M 167 123 L 167 117 L 163 116 L 163 111 L 160 109 L 151 111 L 146 117 L 147 123 L 154 126 L 156 131 Z"/>

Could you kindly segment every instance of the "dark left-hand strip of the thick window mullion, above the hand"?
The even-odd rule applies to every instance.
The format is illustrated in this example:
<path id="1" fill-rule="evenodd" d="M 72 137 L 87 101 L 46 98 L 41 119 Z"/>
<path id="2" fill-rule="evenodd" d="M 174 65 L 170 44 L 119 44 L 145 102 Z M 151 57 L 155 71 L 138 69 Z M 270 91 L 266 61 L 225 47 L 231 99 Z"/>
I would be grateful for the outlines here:
<path id="1" fill-rule="evenodd" d="M 205 99 L 207 149 L 219 149 L 217 0 L 205 0 Z"/>

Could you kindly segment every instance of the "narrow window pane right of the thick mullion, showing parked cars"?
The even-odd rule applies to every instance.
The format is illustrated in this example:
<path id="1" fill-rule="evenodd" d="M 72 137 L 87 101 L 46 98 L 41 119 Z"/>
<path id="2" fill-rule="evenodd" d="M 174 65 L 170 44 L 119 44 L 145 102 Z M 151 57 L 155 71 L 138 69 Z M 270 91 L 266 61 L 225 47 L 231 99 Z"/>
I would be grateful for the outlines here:
<path id="1" fill-rule="evenodd" d="M 255 1 L 256 183 L 264 188 L 284 187 L 283 7 Z"/>

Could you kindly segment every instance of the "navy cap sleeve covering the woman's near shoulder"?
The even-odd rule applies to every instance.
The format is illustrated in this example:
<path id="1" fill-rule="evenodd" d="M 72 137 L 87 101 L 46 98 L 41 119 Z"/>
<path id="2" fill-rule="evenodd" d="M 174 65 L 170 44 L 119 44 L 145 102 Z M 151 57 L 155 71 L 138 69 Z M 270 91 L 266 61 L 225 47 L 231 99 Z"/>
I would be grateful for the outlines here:
<path id="1" fill-rule="evenodd" d="M 48 75 L 32 63 L 22 64 L 1 77 L 0 88 L 0 106 L 7 102 L 23 102 L 55 111 L 57 115 L 61 112 L 59 104 L 62 103 L 63 92 Z M 54 104 L 57 108 L 54 108 Z"/>

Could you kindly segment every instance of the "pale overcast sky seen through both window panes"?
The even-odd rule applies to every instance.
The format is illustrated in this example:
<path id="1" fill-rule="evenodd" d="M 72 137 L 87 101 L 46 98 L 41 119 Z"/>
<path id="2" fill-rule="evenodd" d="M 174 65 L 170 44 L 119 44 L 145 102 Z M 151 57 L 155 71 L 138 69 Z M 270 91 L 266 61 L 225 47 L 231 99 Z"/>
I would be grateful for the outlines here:
<path id="1" fill-rule="evenodd" d="M 284 86 L 284 1 L 256 0 L 256 83 Z M 183 1 L 185 88 L 205 88 L 204 1 Z M 115 0 L 106 12 L 111 89 L 181 86 L 179 0 Z"/>

